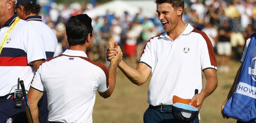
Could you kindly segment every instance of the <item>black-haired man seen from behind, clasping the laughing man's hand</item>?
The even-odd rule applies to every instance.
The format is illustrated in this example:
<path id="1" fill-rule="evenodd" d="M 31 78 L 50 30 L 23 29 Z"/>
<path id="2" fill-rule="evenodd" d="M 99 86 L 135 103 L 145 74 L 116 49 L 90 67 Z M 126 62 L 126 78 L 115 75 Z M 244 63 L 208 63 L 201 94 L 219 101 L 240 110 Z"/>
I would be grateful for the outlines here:
<path id="1" fill-rule="evenodd" d="M 69 50 L 48 58 L 36 72 L 28 92 L 34 123 L 39 122 L 37 103 L 45 91 L 49 123 L 92 123 L 96 90 L 104 98 L 112 94 L 122 52 L 118 48 L 109 71 L 87 58 L 86 49 L 90 48 L 94 38 L 91 21 L 86 14 L 72 16 L 66 24 Z"/>

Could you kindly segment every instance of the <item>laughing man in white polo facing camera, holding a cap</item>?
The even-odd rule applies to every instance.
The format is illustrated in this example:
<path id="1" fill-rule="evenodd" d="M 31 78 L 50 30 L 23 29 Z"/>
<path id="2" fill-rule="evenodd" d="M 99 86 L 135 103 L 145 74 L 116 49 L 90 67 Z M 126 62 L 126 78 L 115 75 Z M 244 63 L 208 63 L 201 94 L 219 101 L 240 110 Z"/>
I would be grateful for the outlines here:
<path id="1" fill-rule="evenodd" d="M 207 35 L 184 24 L 183 0 L 156 0 L 155 3 L 165 32 L 148 40 L 137 68 L 123 60 L 118 66 L 138 86 L 152 75 L 144 123 L 180 123 L 172 115 L 173 96 L 191 99 L 188 104 L 195 101 L 200 109 L 204 99 L 217 87 L 217 62 Z M 108 60 L 116 57 L 116 51 L 107 49 Z M 206 77 L 204 88 L 202 71 Z M 194 95 L 196 89 L 199 93 Z M 196 117 L 191 122 L 199 123 L 199 120 Z"/>

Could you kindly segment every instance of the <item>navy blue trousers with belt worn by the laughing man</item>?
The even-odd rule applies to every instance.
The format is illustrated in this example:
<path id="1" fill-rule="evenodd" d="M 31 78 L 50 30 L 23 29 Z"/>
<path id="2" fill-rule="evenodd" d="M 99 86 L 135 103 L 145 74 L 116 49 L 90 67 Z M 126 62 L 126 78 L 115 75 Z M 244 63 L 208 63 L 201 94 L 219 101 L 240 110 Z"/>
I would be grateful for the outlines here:
<path id="1" fill-rule="evenodd" d="M 176 120 L 172 113 L 161 113 L 153 108 L 147 108 L 143 116 L 144 123 L 180 123 Z M 189 123 L 199 123 L 198 117 Z"/>

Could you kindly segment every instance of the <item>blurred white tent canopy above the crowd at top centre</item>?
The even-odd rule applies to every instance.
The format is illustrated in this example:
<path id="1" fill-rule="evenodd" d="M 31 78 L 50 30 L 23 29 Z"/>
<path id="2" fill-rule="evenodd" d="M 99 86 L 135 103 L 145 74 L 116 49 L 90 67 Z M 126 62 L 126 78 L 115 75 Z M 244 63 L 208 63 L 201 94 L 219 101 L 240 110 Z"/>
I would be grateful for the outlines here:
<path id="1" fill-rule="evenodd" d="M 106 4 L 99 5 L 90 11 L 87 11 L 90 17 L 104 16 L 109 11 L 117 16 L 123 16 L 124 12 L 127 11 L 130 15 L 134 16 L 139 9 L 142 9 L 143 15 L 147 17 L 154 17 L 156 11 L 156 4 L 153 0 L 115 0 Z"/>

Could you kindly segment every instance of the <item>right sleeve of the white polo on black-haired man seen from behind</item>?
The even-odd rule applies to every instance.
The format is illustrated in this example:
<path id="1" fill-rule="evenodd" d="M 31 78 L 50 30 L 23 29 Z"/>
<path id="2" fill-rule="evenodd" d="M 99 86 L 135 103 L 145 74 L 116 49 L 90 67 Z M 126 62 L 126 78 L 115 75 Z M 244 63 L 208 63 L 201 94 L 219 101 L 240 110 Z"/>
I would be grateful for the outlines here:
<path id="1" fill-rule="evenodd" d="M 109 89 L 109 79 L 106 74 L 109 74 L 109 72 L 104 72 L 103 70 L 100 71 L 99 87 L 97 89 L 100 93 L 104 93 Z"/>

